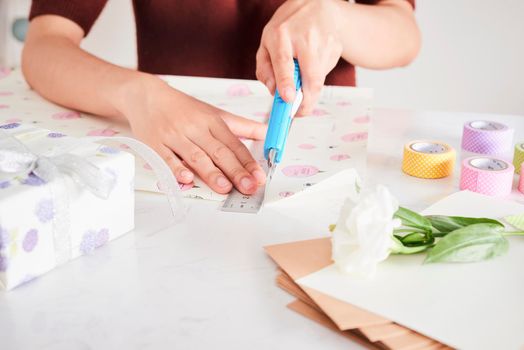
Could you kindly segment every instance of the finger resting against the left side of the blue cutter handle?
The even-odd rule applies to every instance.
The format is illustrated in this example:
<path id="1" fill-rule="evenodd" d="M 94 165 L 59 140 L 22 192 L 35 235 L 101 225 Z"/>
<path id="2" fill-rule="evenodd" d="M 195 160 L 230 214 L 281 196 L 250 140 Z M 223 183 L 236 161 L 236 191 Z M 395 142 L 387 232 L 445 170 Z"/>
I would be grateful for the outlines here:
<path id="1" fill-rule="evenodd" d="M 273 74 L 277 84 L 278 93 L 286 102 L 295 99 L 295 64 L 293 62 L 293 49 L 285 29 L 280 29 L 268 41 L 267 50 L 273 66 Z"/>

